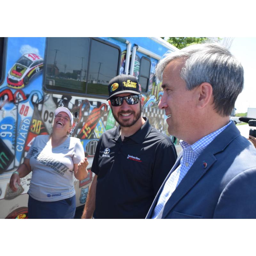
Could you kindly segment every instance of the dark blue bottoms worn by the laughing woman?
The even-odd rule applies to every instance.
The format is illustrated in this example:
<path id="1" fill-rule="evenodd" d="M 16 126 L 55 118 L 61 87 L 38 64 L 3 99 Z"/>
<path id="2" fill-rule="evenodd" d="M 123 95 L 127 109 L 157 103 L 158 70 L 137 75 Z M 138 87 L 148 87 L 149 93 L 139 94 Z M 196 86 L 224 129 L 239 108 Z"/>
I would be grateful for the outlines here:
<path id="1" fill-rule="evenodd" d="M 74 219 L 76 195 L 55 202 L 41 202 L 28 197 L 28 219 Z"/>

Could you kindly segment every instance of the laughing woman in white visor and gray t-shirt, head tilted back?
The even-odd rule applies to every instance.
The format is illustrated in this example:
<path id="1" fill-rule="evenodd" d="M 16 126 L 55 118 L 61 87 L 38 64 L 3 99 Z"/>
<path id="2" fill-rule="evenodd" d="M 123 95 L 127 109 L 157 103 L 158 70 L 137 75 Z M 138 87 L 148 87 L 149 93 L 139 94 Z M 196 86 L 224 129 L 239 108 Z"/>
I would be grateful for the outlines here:
<path id="1" fill-rule="evenodd" d="M 13 172 L 10 188 L 17 190 L 20 178 L 32 171 L 28 190 L 28 218 L 73 219 L 76 211 L 74 176 L 86 178 L 88 160 L 79 139 L 69 137 L 73 115 L 68 108 L 55 110 L 51 135 L 33 141 L 24 163 Z M 73 176 L 74 174 L 74 176 Z"/>

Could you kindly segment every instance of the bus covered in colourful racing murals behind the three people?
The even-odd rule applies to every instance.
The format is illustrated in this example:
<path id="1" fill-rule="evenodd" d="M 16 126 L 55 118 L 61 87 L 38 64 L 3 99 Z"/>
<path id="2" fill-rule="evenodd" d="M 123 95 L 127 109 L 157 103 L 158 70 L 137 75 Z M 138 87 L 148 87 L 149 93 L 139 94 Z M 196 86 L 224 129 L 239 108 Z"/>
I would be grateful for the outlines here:
<path id="1" fill-rule="evenodd" d="M 163 92 L 154 72 L 167 51 L 177 50 L 159 37 L 1 37 L 0 218 L 28 218 L 31 173 L 20 179 L 16 192 L 9 187 L 10 177 L 35 137 L 51 133 L 60 106 L 73 113 L 70 136 L 81 140 L 89 161 L 88 176 L 74 178 L 76 207 L 84 206 L 98 140 L 117 125 L 107 98 L 108 82 L 119 74 L 137 77 L 145 98 L 143 116 L 171 136 L 167 116 L 157 107 Z"/>

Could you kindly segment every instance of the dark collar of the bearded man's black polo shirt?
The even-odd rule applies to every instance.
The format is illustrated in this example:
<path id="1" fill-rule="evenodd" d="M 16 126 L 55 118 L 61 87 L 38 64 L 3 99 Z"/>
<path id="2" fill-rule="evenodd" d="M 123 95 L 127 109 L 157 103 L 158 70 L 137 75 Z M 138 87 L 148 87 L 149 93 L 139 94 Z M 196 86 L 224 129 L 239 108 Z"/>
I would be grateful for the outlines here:
<path id="1" fill-rule="evenodd" d="M 148 118 L 143 116 L 143 119 L 146 121 L 141 127 L 140 129 L 135 132 L 134 134 L 132 134 L 129 137 L 126 138 L 130 138 L 132 140 L 134 140 L 136 143 L 142 143 L 145 138 L 148 136 L 148 133 L 151 131 L 152 126 L 149 124 L 148 122 Z M 114 140 L 118 140 L 119 136 L 120 136 L 120 125 L 118 125 L 116 127 L 116 130 L 114 130 L 112 132 L 112 134 L 110 134 L 109 139 L 114 139 Z"/>

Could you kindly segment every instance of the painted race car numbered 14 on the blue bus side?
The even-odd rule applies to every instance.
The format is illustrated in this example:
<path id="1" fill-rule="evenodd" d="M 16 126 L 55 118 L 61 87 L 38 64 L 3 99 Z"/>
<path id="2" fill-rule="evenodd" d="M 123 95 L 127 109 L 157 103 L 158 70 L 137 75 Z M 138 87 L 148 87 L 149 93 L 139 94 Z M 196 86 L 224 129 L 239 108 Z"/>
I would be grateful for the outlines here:
<path id="1" fill-rule="evenodd" d="M 8 72 L 8 86 L 14 89 L 23 88 L 34 75 L 41 73 L 43 62 L 44 59 L 35 53 L 23 54 Z"/>

